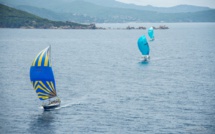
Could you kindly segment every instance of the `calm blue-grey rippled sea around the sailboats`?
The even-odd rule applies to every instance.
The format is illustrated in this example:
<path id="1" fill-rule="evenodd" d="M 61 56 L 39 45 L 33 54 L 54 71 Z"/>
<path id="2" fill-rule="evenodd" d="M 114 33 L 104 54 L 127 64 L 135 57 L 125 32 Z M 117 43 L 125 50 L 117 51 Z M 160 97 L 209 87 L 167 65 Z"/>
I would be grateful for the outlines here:
<path id="1" fill-rule="evenodd" d="M 98 24 L 103 27 L 161 24 Z M 215 23 L 146 30 L 0 29 L 1 134 L 213 134 Z M 149 40 L 148 36 L 147 39 Z M 51 45 L 60 108 L 43 111 L 30 65 Z"/>

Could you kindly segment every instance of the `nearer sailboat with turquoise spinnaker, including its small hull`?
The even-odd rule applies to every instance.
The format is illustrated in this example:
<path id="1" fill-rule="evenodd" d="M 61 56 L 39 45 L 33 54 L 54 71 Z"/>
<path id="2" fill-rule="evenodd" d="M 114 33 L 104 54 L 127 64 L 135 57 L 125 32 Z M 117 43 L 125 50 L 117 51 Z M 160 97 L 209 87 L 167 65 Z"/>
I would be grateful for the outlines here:
<path id="1" fill-rule="evenodd" d="M 147 42 L 146 36 L 142 35 L 138 39 L 137 44 L 138 44 L 138 48 L 142 54 L 141 61 L 142 62 L 149 61 L 150 60 L 150 56 L 149 56 L 150 48 L 149 48 L 149 44 Z"/>

